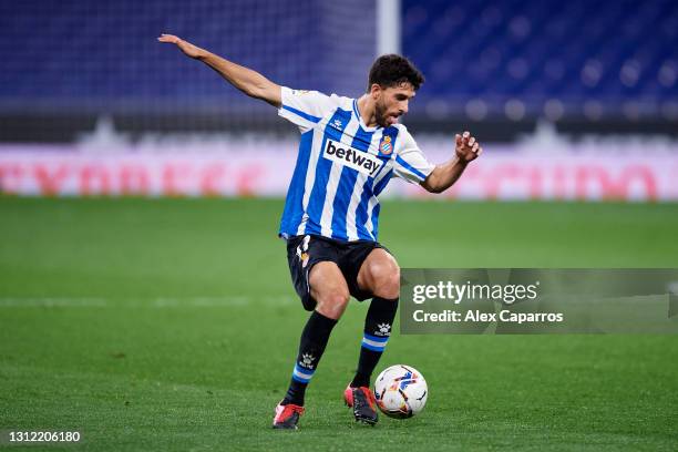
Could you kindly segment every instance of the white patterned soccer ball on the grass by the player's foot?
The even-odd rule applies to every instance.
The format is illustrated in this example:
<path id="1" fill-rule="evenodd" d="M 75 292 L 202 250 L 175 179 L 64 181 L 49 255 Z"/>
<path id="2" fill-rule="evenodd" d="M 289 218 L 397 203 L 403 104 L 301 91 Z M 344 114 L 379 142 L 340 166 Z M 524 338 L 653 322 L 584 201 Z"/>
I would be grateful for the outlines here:
<path id="1" fill-rule="evenodd" d="M 391 418 L 405 419 L 420 413 L 428 397 L 427 380 L 411 366 L 391 366 L 374 382 L 377 405 Z"/>

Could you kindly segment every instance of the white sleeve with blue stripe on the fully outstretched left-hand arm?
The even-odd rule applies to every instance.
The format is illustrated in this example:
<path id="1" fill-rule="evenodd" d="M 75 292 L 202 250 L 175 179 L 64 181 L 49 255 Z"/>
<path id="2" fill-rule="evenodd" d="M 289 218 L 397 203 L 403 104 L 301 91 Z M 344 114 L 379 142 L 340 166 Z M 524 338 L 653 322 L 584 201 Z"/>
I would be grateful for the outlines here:
<path id="1" fill-rule="evenodd" d="M 314 127 L 332 109 L 330 96 L 318 91 L 281 88 L 281 105 L 278 115 L 297 124 L 301 133 Z"/>

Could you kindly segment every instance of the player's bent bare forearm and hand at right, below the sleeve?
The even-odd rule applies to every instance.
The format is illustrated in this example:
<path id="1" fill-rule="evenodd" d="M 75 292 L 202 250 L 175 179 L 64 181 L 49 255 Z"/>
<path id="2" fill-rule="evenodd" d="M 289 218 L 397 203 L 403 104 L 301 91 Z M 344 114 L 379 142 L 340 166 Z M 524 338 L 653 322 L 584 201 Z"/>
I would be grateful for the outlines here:
<path id="1" fill-rule="evenodd" d="M 456 134 L 454 140 L 454 157 L 450 162 L 436 165 L 421 183 L 421 186 L 431 193 L 442 193 L 450 188 L 462 175 L 466 165 L 483 152 L 480 143 L 470 132 L 464 132 L 462 135 Z"/>

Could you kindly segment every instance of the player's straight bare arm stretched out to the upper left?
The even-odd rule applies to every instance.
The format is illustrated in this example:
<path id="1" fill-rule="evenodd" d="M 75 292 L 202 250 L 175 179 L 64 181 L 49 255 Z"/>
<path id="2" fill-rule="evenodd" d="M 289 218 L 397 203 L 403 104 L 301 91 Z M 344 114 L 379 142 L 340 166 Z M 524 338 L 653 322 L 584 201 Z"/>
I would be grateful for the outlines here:
<path id="1" fill-rule="evenodd" d="M 161 34 L 157 40 L 160 42 L 175 44 L 186 56 L 191 56 L 194 60 L 207 64 L 226 79 L 228 83 L 250 97 L 260 99 L 276 107 L 280 107 L 282 102 L 280 86 L 266 79 L 260 73 L 230 62 L 205 49 L 201 49 L 174 34 Z"/>

